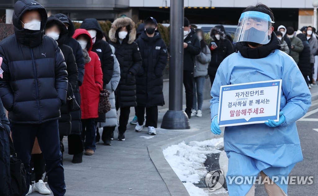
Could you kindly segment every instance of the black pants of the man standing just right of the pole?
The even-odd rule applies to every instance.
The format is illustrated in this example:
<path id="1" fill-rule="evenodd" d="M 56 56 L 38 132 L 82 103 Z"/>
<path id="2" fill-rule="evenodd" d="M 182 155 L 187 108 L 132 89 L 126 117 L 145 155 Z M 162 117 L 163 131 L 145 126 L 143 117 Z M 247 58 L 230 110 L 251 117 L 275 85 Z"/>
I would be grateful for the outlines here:
<path id="1" fill-rule="evenodd" d="M 193 71 L 183 70 L 183 85 L 185 88 L 186 111 L 191 111 L 193 106 Z"/>

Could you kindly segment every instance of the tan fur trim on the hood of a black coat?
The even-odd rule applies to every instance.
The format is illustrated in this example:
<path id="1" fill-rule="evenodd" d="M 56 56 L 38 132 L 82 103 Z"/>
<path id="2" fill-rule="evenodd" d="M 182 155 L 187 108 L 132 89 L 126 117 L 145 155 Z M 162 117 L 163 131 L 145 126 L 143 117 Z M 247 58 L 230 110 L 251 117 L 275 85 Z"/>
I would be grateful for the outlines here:
<path id="1" fill-rule="evenodd" d="M 109 30 L 109 39 L 117 43 L 119 40 L 118 38 L 118 31 L 120 28 L 126 26 L 128 28 L 128 34 L 124 40 L 127 40 L 128 44 L 131 44 L 135 41 L 136 39 L 136 28 L 135 28 L 135 23 L 131 18 L 125 17 L 125 18 L 117 18 L 113 24 L 111 29 Z"/>

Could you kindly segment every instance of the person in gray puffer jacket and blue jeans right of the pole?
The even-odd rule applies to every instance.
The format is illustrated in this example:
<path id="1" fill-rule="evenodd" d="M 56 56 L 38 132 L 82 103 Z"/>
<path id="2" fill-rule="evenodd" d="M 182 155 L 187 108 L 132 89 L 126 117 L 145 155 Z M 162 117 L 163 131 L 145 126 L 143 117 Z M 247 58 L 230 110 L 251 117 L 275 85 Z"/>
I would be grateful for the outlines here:
<path id="1" fill-rule="evenodd" d="M 196 34 L 200 40 L 200 54 L 198 54 L 194 61 L 193 72 L 193 106 L 191 116 L 202 117 L 203 104 L 203 87 L 205 76 L 208 75 L 208 67 L 211 61 L 211 51 L 204 40 L 204 31 L 197 29 Z"/>

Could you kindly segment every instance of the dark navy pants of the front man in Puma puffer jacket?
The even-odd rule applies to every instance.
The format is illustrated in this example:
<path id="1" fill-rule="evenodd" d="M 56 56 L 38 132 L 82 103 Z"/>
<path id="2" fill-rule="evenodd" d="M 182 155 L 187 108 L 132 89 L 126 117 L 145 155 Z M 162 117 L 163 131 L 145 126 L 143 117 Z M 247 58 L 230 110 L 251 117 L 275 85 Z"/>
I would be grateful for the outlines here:
<path id="1" fill-rule="evenodd" d="M 54 194 L 65 195 L 64 168 L 62 153 L 60 151 L 58 120 L 48 121 L 42 124 L 11 124 L 13 144 L 17 158 L 24 163 L 26 171 L 27 191 L 30 185 L 30 160 L 35 137 L 38 138 L 40 149 L 43 153 L 48 184 Z"/>

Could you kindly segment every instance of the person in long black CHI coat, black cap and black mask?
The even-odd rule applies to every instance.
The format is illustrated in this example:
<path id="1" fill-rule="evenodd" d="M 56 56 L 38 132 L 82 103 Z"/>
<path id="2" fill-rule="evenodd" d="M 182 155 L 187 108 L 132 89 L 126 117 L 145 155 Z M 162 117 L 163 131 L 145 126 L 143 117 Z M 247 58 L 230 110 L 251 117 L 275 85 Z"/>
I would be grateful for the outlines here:
<path id="1" fill-rule="evenodd" d="M 167 47 L 157 31 L 157 25 L 155 18 L 147 18 L 144 23 L 146 30 L 136 40 L 142 56 L 142 67 L 136 76 L 138 123 L 135 130 L 142 130 L 146 109 L 149 135 L 156 135 L 158 105 L 164 105 L 162 71 L 168 61 Z"/>

